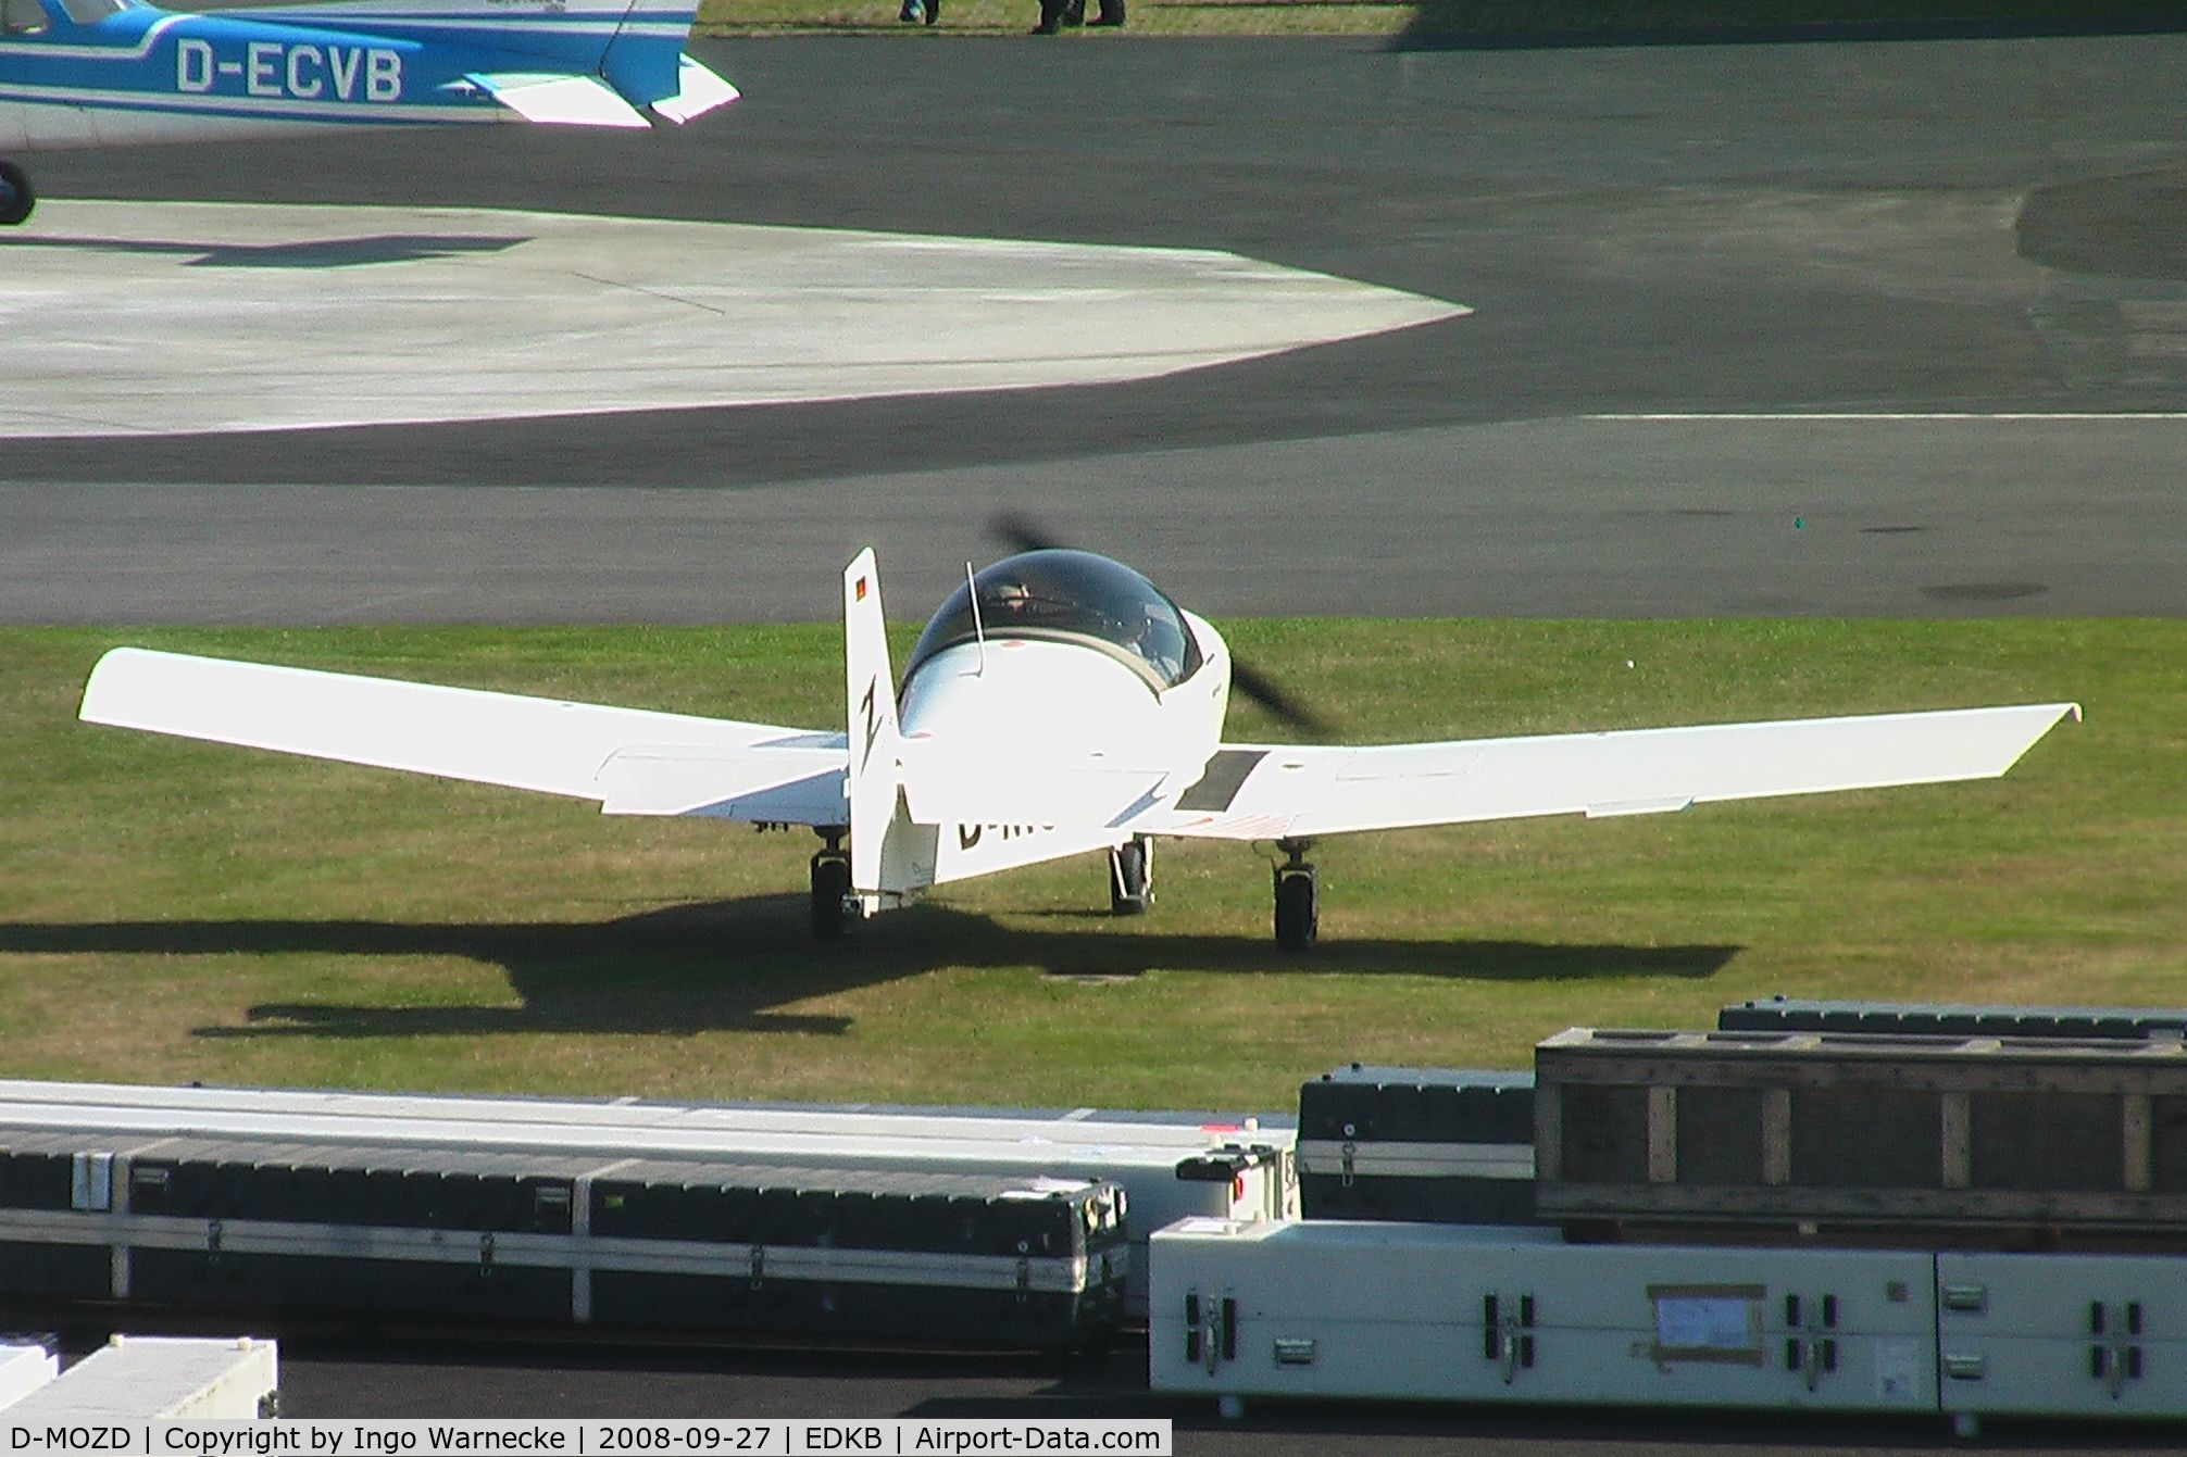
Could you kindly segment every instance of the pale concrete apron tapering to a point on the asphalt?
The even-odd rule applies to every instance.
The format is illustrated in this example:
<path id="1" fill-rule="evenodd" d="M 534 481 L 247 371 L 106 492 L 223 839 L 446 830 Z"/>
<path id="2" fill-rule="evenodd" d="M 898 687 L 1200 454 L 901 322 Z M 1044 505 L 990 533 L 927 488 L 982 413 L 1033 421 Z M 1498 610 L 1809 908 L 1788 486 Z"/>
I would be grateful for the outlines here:
<path id="1" fill-rule="evenodd" d="M 0 437 L 1100 384 L 1467 312 L 1207 249 L 455 208 L 52 201 L 0 245 Z"/>

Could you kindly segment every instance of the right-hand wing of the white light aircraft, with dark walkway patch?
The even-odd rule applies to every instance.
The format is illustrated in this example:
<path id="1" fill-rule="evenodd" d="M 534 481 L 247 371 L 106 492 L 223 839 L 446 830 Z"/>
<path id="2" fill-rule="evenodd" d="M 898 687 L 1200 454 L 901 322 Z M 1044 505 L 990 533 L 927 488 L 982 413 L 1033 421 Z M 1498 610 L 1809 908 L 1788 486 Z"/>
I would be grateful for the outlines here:
<path id="1" fill-rule="evenodd" d="M 2078 703 L 1859 719 L 1542 734 L 1358 749 L 1225 745 L 1142 834 L 1284 839 L 1345 830 L 1656 815 L 1712 799 L 1997 778 Z"/>

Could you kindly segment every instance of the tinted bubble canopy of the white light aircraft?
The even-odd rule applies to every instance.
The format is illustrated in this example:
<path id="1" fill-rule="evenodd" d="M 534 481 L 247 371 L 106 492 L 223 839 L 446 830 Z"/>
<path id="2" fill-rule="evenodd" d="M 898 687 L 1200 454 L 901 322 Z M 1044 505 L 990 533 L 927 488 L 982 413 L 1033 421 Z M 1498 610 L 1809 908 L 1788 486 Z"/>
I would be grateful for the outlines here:
<path id="1" fill-rule="evenodd" d="M 973 599 L 978 592 L 978 625 Z M 1185 614 L 1122 561 L 1089 550 L 1028 550 L 978 572 L 943 601 L 903 666 L 910 682 L 943 649 L 1019 638 L 1096 647 L 1137 668 L 1153 688 L 1172 688 L 1201 666 Z"/>

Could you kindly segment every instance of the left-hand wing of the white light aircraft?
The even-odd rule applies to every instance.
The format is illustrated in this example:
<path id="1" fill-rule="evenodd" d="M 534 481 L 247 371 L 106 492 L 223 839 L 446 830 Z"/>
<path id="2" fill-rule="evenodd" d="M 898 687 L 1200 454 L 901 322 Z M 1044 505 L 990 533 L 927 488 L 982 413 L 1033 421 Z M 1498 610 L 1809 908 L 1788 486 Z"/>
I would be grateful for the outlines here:
<path id="1" fill-rule="evenodd" d="M 597 799 L 610 815 L 842 824 L 844 741 L 352 673 L 114 649 L 83 721 Z"/>

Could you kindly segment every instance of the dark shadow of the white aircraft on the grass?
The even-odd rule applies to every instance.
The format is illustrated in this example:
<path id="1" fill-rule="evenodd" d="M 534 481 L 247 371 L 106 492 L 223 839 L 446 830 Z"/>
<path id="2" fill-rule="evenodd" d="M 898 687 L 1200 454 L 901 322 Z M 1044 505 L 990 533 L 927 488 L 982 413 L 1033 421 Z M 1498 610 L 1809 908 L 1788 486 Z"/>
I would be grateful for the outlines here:
<path id="1" fill-rule="evenodd" d="M 1159 915 L 1159 909 L 1157 909 Z M 1074 920 L 1054 913 L 1056 922 Z M 1229 935 L 1024 931 L 925 904 L 818 944 L 803 896 L 755 896 L 606 922 L 79 922 L 0 924 L 0 952 L 466 957 L 501 966 L 516 1005 L 260 1003 L 241 1027 L 201 1038 L 409 1038 L 488 1033 L 776 1031 L 838 1035 L 851 1018 L 794 1005 L 949 966 L 1037 966 L 1050 976 L 1137 976 L 1153 968 L 1297 976 L 1590 981 L 1712 976 L 1736 946 L 1564 946 L 1542 941 L 1328 939 L 1308 955 Z"/>

